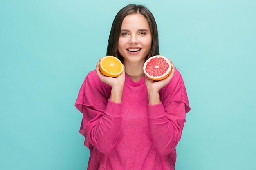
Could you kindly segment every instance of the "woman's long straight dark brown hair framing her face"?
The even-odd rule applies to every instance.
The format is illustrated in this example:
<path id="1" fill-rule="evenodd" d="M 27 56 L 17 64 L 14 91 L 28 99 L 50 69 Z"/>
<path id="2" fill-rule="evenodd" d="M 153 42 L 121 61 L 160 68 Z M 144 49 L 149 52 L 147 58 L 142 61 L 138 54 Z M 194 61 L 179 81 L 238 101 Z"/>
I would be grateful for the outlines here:
<path id="1" fill-rule="evenodd" d="M 123 62 L 123 57 L 117 50 L 122 22 L 127 15 L 136 13 L 144 15 L 144 17 L 147 19 L 152 36 L 151 49 L 145 60 L 147 60 L 149 57 L 159 55 L 158 31 L 155 18 L 145 6 L 137 4 L 127 5 L 126 7 L 122 8 L 115 16 L 108 38 L 107 55 L 115 56 Z"/>

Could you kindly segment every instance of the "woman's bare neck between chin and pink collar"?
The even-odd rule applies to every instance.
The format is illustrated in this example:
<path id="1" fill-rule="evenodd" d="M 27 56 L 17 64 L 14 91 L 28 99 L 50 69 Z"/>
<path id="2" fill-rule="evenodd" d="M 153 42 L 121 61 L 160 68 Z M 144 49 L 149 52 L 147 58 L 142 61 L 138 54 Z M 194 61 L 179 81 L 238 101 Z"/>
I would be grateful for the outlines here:
<path id="1" fill-rule="evenodd" d="M 125 73 L 135 82 L 139 81 L 141 77 L 144 76 L 143 71 L 143 65 L 142 63 L 130 63 L 130 62 L 124 62 L 125 66 Z"/>

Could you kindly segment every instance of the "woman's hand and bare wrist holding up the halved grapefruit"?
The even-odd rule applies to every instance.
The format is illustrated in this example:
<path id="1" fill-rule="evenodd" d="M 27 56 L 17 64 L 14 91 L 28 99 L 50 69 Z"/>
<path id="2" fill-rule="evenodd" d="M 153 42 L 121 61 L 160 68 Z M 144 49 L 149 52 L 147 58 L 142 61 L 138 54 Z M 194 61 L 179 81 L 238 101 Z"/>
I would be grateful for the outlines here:
<path id="1" fill-rule="evenodd" d="M 154 81 L 152 79 L 149 79 L 145 75 L 145 84 L 148 90 L 148 103 L 149 104 L 159 104 L 160 103 L 160 95 L 159 95 L 159 90 L 163 88 L 166 84 L 168 84 L 171 79 L 173 78 L 174 72 L 175 72 L 175 67 L 173 65 L 173 62 L 171 59 L 169 59 L 171 62 L 171 73 L 166 77 L 165 79 L 162 79 L 160 81 Z"/>

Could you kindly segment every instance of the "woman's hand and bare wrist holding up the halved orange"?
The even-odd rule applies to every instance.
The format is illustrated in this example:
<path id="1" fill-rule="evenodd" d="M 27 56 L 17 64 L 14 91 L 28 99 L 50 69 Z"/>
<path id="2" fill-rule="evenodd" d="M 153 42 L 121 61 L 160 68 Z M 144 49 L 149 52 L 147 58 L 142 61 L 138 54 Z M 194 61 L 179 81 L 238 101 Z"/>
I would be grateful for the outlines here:
<path id="1" fill-rule="evenodd" d="M 121 75 L 117 77 L 108 77 L 103 75 L 99 69 L 99 62 L 101 61 L 101 59 L 102 58 L 99 59 L 96 65 L 96 73 L 99 79 L 101 80 L 101 82 L 104 82 L 111 86 L 112 90 L 111 90 L 110 100 L 112 102 L 120 103 L 122 98 L 122 93 L 123 93 L 124 80 L 125 80 L 124 65 L 123 65 L 123 72 L 121 73 Z"/>

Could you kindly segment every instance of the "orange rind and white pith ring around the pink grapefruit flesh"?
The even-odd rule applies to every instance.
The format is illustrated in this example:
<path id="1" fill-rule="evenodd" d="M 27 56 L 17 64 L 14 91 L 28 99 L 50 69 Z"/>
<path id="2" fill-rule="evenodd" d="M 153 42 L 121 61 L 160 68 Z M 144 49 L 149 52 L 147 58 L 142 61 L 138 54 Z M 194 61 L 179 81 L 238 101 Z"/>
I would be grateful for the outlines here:
<path id="1" fill-rule="evenodd" d="M 167 64 L 169 64 L 169 67 L 168 69 L 166 70 L 165 73 L 163 73 L 162 75 L 160 76 L 153 76 L 153 75 L 149 75 L 149 73 L 146 72 L 146 66 L 148 64 L 148 62 L 150 62 L 151 59 L 154 59 L 154 58 L 163 58 Z M 168 75 L 170 75 L 171 73 L 171 62 L 164 56 L 162 55 L 156 55 L 156 56 L 153 56 L 153 57 L 150 57 L 148 60 L 146 60 L 146 62 L 144 63 L 144 66 L 143 66 L 143 71 L 145 73 L 145 75 L 149 78 L 149 79 L 152 79 L 152 80 L 155 80 L 155 81 L 159 81 L 159 80 L 162 80 L 162 79 L 165 79 L 166 77 L 168 77 Z"/>

